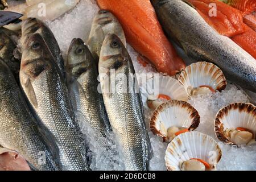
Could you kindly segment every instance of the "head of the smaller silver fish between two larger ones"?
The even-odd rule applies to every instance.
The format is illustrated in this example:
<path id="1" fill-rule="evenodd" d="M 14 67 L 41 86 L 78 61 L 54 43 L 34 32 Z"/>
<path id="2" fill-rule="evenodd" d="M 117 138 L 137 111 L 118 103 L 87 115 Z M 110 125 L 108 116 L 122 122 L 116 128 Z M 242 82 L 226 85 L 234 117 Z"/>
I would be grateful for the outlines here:
<path id="1" fill-rule="evenodd" d="M 93 67 L 92 54 L 81 39 L 73 39 L 68 49 L 67 71 L 74 77 L 86 73 Z"/>

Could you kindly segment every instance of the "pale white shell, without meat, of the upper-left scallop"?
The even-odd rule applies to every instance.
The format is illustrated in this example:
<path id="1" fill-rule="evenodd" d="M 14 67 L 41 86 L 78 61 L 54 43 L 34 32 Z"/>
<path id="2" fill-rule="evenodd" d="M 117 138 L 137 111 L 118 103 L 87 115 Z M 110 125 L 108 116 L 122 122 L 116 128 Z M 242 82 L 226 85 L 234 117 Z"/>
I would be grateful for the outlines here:
<path id="1" fill-rule="evenodd" d="M 147 82 L 143 84 L 141 88 L 143 105 L 148 107 L 148 96 L 158 94 L 167 95 L 171 97 L 172 100 L 188 101 L 187 92 L 183 85 L 170 76 L 159 75 L 148 78 Z"/>

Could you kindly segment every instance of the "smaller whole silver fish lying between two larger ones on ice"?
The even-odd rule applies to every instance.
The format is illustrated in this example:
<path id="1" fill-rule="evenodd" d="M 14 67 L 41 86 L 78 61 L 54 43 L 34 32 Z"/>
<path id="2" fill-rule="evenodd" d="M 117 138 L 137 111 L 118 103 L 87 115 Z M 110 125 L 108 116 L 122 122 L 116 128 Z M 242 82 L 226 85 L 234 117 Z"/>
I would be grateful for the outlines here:
<path id="1" fill-rule="evenodd" d="M 110 131 L 102 95 L 98 92 L 98 71 L 92 54 L 81 39 L 73 39 L 68 50 L 69 92 L 75 110 L 100 136 Z"/>

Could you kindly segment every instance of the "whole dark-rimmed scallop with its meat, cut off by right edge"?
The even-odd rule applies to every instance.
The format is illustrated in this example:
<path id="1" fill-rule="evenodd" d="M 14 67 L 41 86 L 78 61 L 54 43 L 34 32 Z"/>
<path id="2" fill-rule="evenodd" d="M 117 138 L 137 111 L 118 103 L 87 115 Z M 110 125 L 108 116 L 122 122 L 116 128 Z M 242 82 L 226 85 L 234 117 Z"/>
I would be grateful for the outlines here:
<path id="1" fill-rule="evenodd" d="M 233 103 L 222 107 L 214 121 L 218 139 L 227 144 L 253 144 L 256 135 L 256 107 L 249 103 Z"/>

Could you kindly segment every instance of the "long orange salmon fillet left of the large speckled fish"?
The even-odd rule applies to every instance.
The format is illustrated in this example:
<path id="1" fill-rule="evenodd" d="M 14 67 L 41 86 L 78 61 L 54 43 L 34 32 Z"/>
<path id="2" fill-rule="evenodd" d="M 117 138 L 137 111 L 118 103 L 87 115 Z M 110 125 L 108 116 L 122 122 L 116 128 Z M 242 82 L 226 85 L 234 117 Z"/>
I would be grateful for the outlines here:
<path id="1" fill-rule="evenodd" d="M 162 73 L 175 75 L 185 67 L 168 41 L 149 0 L 97 0 L 119 20 L 127 42 Z"/>

